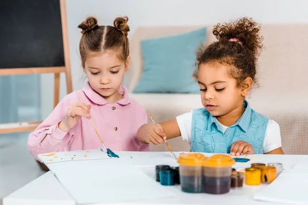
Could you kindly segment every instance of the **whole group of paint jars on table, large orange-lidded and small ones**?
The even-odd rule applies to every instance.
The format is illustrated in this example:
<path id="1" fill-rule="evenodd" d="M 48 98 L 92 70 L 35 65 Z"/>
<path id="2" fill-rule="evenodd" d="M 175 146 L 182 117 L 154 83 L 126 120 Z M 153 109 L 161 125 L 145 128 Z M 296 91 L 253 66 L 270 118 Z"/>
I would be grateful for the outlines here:
<path id="1" fill-rule="evenodd" d="M 183 192 L 224 194 L 230 188 L 270 183 L 282 172 L 281 163 L 253 163 L 243 171 L 232 169 L 235 160 L 228 155 L 206 157 L 200 153 L 185 153 L 178 158 L 180 167 L 156 166 L 156 180 L 161 185 L 180 184 Z"/>

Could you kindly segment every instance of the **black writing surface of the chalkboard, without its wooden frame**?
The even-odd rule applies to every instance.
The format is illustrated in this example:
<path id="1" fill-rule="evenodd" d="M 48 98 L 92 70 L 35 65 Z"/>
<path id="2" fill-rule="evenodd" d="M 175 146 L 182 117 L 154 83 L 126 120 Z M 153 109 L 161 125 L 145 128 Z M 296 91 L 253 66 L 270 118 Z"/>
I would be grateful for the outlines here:
<path id="1" fill-rule="evenodd" d="M 59 0 L 3 0 L 0 69 L 65 66 Z"/>

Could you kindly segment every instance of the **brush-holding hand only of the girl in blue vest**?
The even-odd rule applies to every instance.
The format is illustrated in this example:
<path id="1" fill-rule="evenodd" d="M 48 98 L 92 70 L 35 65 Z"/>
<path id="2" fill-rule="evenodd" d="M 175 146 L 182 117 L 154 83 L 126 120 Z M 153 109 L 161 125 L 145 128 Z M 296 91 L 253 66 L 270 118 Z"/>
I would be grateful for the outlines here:
<path id="1" fill-rule="evenodd" d="M 139 141 L 152 145 L 158 145 L 164 142 L 166 134 L 160 124 L 145 124 L 137 132 Z"/>

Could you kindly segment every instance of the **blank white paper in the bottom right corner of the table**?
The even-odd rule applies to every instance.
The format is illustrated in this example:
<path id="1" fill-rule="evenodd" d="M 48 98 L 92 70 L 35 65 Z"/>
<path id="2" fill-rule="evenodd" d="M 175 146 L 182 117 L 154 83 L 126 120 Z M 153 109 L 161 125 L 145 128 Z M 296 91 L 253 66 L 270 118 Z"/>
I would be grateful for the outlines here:
<path id="1" fill-rule="evenodd" d="M 308 204 L 307 170 L 284 170 L 271 184 L 253 196 L 255 200 L 287 204 Z"/>

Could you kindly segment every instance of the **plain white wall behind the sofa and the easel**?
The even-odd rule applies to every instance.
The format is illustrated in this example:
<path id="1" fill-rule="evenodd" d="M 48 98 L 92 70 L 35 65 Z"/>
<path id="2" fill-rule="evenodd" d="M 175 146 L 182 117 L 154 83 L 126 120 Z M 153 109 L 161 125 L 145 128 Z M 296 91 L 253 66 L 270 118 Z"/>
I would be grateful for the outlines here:
<path id="1" fill-rule="evenodd" d="M 81 37 L 77 26 L 89 15 L 99 25 L 112 25 L 118 16 L 129 17 L 130 33 L 145 25 L 209 25 L 242 16 L 259 23 L 308 23 L 308 1 L 304 0 L 66 0 L 73 90 L 80 90 L 82 69 L 78 54 Z M 66 95 L 61 76 L 60 99 Z M 53 75 L 42 75 L 42 118 L 53 106 Z"/>

